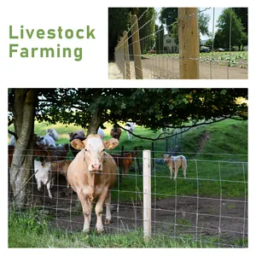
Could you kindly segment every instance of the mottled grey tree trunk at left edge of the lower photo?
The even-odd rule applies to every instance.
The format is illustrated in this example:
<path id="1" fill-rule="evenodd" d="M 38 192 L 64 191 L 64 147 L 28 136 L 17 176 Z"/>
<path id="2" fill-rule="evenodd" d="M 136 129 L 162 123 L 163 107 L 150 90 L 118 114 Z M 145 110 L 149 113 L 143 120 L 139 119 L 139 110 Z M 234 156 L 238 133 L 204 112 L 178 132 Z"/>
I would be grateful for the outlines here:
<path id="1" fill-rule="evenodd" d="M 26 184 L 32 177 L 33 134 L 37 90 L 16 89 L 13 107 L 15 133 L 18 140 L 10 168 L 10 186 L 15 206 L 20 209 L 30 203 L 32 186 Z M 30 181 L 31 182 L 31 181 Z"/>

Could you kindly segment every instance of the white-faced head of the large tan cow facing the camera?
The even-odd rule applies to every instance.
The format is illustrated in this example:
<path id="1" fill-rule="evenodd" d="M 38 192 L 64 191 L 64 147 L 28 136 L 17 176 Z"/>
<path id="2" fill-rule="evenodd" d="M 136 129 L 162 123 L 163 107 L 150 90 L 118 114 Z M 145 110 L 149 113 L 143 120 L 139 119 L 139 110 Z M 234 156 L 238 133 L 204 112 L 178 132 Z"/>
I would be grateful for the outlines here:
<path id="1" fill-rule="evenodd" d="M 74 139 L 71 142 L 73 148 L 84 150 L 84 161 L 89 172 L 101 172 L 103 160 L 107 156 L 105 150 L 113 149 L 118 144 L 117 139 L 110 138 L 108 141 L 103 141 L 98 134 L 90 134 L 84 141 Z"/>

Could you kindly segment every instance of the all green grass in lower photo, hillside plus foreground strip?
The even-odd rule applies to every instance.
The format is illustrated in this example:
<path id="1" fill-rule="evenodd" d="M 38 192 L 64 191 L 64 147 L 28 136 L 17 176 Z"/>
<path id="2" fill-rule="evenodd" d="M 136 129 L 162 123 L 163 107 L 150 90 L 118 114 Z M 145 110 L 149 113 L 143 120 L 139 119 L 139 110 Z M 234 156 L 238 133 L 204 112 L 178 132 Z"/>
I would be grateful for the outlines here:
<path id="1" fill-rule="evenodd" d="M 111 125 L 106 124 L 105 138 L 110 137 Z M 59 134 L 58 143 L 68 143 L 68 132 L 79 130 L 74 125 L 36 124 L 35 133 L 44 136 L 47 128 L 54 128 Z M 143 137 L 157 137 L 160 131 L 149 131 L 137 127 L 136 134 Z M 169 139 L 172 146 L 174 138 Z M 227 199 L 247 198 L 247 121 L 225 120 L 214 125 L 203 125 L 177 137 L 181 153 L 188 160 L 187 178 L 179 170 L 177 181 L 170 180 L 166 165 L 155 163 L 152 170 L 151 187 L 157 199 L 173 195 L 195 195 L 200 197 Z M 125 150 L 139 148 L 139 161 L 142 166 L 142 150 L 151 149 L 152 142 L 133 137 L 128 140 L 123 132 L 118 148 Z M 154 160 L 160 159 L 166 151 L 166 141 L 154 142 Z M 69 154 L 71 155 L 71 154 Z M 143 177 L 134 163 L 128 177 L 113 188 L 112 201 L 140 201 L 143 198 Z M 170 239 L 157 236 L 148 243 L 143 241 L 143 231 L 135 230 L 115 235 L 97 236 L 83 233 L 69 233 L 52 230 L 48 219 L 32 209 L 22 214 L 9 212 L 9 247 L 214 247 L 214 244 L 193 241 L 188 235 L 182 239 Z M 212 241 L 216 237 L 212 236 Z M 244 241 L 243 241 L 244 242 Z M 234 239 L 234 246 L 241 245 L 240 239 Z"/>

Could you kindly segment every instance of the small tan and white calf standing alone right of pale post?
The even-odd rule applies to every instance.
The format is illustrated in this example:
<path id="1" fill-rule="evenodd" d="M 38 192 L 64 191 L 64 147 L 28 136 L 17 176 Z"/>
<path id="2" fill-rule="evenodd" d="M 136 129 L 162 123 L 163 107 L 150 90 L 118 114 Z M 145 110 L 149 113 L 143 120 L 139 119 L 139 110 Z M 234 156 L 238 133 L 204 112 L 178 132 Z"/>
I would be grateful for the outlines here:
<path id="1" fill-rule="evenodd" d="M 180 167 L 183 168 L 183 175 L 186 177 L 187 160 L 183 155 L 173 156 L 171 154 L 164 154 L 164 162 L 169 166 L 172 179 L 172 171 L 174 169 L 174 180 L 177 178 L 177 171 Z"/>

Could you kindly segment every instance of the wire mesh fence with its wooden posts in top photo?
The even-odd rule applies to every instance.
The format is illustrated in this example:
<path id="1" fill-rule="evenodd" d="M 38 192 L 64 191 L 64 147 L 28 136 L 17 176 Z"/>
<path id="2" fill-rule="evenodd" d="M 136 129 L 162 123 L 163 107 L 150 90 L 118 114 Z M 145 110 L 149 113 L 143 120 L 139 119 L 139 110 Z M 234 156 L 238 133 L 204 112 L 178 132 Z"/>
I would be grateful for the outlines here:
<path id="1" fill-rule="evenodd" d="M 154 17 L 140 24 L 146 10 L 136 21 L 131 19 L 130 29 L 119 38 L 114 51 L 123 79 L 247 79 L 248 55 L 244 50 L 247 48 L 235 50 L 232 47 L 236 37 L 232 34 L 232 8 L 229 8 L 229 46 L 225 49 L 213 47 L 216 8 L 195 9 L 194 13 L 186 15 L 188 9 L 171 25 L 159 26 L 143 36 L 143 27 Z M 199 34 L 198 15 L 209 10 L 212 10 L 212 45 L 202 46 L 193 35 Z M 160 16 L 160 12 L 156 16 Z M 178 26 L 178 39 L 170 33 L 174 26 Z"/>

